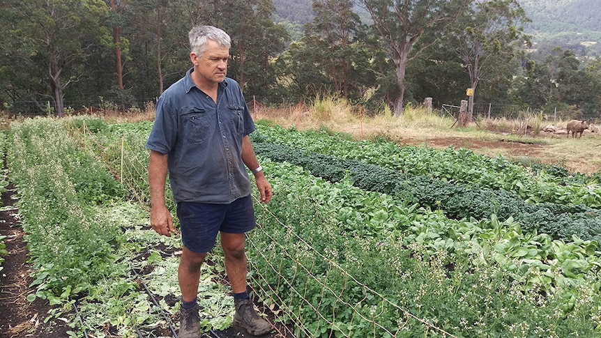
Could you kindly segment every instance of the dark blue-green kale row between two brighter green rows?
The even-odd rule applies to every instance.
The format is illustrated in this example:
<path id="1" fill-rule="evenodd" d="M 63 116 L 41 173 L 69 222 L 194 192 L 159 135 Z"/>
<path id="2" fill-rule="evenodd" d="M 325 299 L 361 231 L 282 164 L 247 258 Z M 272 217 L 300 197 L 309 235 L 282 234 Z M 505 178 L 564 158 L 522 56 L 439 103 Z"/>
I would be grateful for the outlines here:
<path id="1" fill-rule="evenodd" d="M 393 194 L 406 203 L 418 203 L 433 210 L 441 209 L 450 218 L 475 218 L 496 215 L 499 220 L 512 217 L 524 231 L 548 233 L 570 240 L 579 236 L 601 241 L 601 215 L 586 206 L 555 203 L 528 204 L 504 190 L 484 190 L 476 185 L 454 185 L 425 175 L 402 174 L 359 160 L 307 153 L 280 144 L 254 144 L 254 150 L 277 162 L 290 162 L 333 182 L 345 178 L 367 191 Z"/>

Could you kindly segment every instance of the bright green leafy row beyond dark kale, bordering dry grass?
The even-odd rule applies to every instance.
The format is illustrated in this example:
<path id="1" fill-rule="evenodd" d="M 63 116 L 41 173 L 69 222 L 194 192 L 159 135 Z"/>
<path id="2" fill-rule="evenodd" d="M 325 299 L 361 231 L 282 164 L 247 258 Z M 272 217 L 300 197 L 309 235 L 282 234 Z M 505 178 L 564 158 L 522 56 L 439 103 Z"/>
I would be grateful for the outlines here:
<path id="1" fill-rule="evenodd" d="M 282 144 L 312 153 L 361 160 L 380 167 L 423 175 L 451 183 L 478 185 L 492 190 L 507 190 L 528 203 L 584 204 L 601 207 L 601 173 L 575 174 L 549 167 L 528 170 L 502 156 L 488 158 L 460 148 L 439 151 L 434 148 L 399 146 L 387 141 L 353 141 L 327 131 L 298 132 L 258 124 L 251 135 L 254 142 Z"/>

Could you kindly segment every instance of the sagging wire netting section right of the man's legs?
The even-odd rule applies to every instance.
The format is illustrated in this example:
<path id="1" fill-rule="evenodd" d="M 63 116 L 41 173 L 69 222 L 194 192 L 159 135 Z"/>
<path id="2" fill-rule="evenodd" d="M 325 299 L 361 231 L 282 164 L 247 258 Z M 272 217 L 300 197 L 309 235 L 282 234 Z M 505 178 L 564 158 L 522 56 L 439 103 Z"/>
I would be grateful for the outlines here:
<path id="1" fill-rule="evenodd" d="M 286 300 L 283 295 L 275 292 L 278 289 L 288 290 L 289 295 L 300 300 L 298 307 L 309 307 L 313 314 L 309 314 L 312 321 L 303 318 L 302 312 L 282 312 L 276 320 L 291 320 L 294 323 L 294 332 L 297 336 L 315 337 L 315 332 L 329 332 L 322 337 L 358 337 L 353 328 L 372 328 L 372 334 L 365 337 L 405 337 L 408 332 L 416 333 L 416 326 L 420 328 L 420 337 L 455 337 L 445 330 L 428 323 L 425 319 L 413 316 L 411 312 L 398 306 L 394 300 L 389 300 L 379 292 L 374 291 L 355 279 L 346 270 L 338 266 L 335 261 L 328 259 L 315 249 L 310 243 L 296 235 L 291 227 L 278 220 L 278 218 L 264 205 L 261 206 L 262 220 L 255 231 L 261 232 L 257 238 L 268 240 L 249 240 L 249 245 L 254 247 L 256 254 L 250 257 L 251 268 L 257 272 L 252 284 L 258 286 L 262 297 L 269 302 L 286 309 Z M 271 226 L 287 229 L 286 240 L 271 236 Z M 268 248 L 268 249 L 266 249 Z M 277 248 L 277 249 L 273 249 Z M 299 257 L 302 256 L 302 259 Z M 257 264 L 262 262 L 263 264 Z M 294 266 L 294 270 L 282 271 L 282 266 Z M 326 272 L 314 273 L 316 266 L 327 266 Z M 277 276 L 276 281 L 273 277 Z M 386 276 L 381 276 L 386 278 Z M 300 282 L 295 279 L 302 279 Z M 319 286 L 315 289 L 314 286 Z M 273 286 L 273 287 L 272 287 Z M 351 290 L 356 297 L 353 300 L 341 297 L 346 291 Z M 316 300 L 316 295 L 319 295 Z M 358 300 L 357 300 L 358 299 Z M 378 303 L 378 307 L 371 307 L 365 311 L 363 305 L 369 299 L 370 303 Z M 375 301 L 374 301 L 375 300 Z M 327 305 L 325 305 L 327 303 Z M 324 311 L 325 309 L 325 311 Z M 397 313 L 394 323 L 384 315 L 385 312 Z M 346 314 L 350 321 L 337 320 L 336 314 Z M 317 327 L 316 327 L 317 326 Z M 335 332 L 335 333 L 334 333 Z"/>

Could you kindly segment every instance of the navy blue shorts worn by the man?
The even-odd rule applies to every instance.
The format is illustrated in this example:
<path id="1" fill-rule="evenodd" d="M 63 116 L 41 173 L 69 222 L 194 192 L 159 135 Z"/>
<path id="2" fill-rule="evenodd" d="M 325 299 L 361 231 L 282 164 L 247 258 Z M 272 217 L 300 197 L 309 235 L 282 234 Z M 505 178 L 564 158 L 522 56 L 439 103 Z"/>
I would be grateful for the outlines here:
<path id="1" fill-rule="evenodd" d="M 177 203 L 183 245 L 197 254 L 211 251 L 217 233 L 245 233 L 256 226 L 250 195 L 229 204 Z"/>

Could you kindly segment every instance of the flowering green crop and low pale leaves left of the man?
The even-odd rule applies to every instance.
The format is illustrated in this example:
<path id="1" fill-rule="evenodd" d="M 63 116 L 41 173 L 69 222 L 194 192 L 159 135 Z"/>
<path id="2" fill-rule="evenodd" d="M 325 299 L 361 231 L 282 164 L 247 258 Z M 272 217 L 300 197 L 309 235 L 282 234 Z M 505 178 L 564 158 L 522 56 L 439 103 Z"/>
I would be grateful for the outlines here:
<path id="1" fill-rule="evenodd" d="M 162 298 L 167 291 L 174 302 L 178 300 L 173 291 L 177 281 L 176 273 L 169 278 L 161 275 L 165 269 L 176 270 L 177 263 L 175 257 L 162 259 L 156 247 L 176 251 L 181 249 L 179 238 L 159 236 L 147 226 L 146 210 L 137 201 L 128 201 L 130 192 L 86 144 L 86 133 L 107 126 L 102 120 L 86 118 L 36 118 L 12 125 L 9 177 L 19 198 L 36 288 L 28 299 L 42 298 L 54 306 L 45 321 L 69 318 L 77 301 L 83 325 L 71 316 L 68 324 L 76 330 L 68 332 L 70 337 L 83 337 L 84 330 L 93 337 L 132 337 L 136 330 L 166 332 L 160 309 L 175 313 L 178 303 L 167 304 Z M 108 146 L 114 145 L 94 150 L 102 154 Z M 137 166 L 135 174 L 142 182 L 146 181 L 144 165 Z M 219 268 L 215 264 L 204 269 L 203 278 L 211 282 Z M 133 270 L 148 274 L 137 276 Z M 160 307 L 153 306 L 141 290 L 141 281 L 160 295 Z M 222 302 L 227 293 L 225 286 L 211 284 L 206 289 L 200 293 L 205 305 Z M 204 328 L 231 323 L 233 302 L 218 307 L 223 312 L 204 323 Z M 157 332 L 145 335 L 157 336 Z"/>

